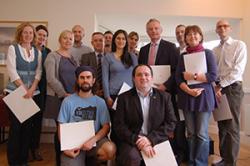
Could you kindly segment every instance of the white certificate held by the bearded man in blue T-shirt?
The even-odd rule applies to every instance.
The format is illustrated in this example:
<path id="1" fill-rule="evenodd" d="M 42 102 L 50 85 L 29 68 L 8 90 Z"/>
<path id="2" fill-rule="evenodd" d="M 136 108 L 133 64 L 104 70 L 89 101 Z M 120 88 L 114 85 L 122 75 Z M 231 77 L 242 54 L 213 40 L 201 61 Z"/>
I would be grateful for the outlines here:
<path id="1" fill-rule="evenodd" d="M 94 135 L 93 120 L 60 124 L 61 150 L 78 148 Z"/>

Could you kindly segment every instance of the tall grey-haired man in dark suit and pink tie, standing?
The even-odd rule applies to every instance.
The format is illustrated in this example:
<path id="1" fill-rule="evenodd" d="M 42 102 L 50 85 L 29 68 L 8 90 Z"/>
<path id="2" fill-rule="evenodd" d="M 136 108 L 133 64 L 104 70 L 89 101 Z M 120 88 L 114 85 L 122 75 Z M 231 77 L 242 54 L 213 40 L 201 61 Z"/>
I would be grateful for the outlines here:
<path id="1" fill-rule="evenodd" d="M 147 34 L 150 38 L 150 43 L 140 49 L 139 64 L 149 65 L 170 65 L 171 75 L 166 82 L 157 85 L 159 90 L 167 91 L 172 96 L 172 103 L 176 117 L 179 117 L 175 95 L 177 93 L 177 85 L 175 82 L 175 70 L 178 63 L 179 51 L 174 43 L 168 42 L 161 38 L 162 27 L 157 19 L 150 19 L 146 24 Z M 175 135 L 176 136 L 176 135 Z M 174 133 L 168 135 L 169 138 L 174 138 Z M 174 146 L 175 141 L 171 141 L 171 146 L 177 155 L 177 149 Z M 178 157 L 178 156 L 177 156 Z M 177 158 L 178 159 L 178 158 Z"/>

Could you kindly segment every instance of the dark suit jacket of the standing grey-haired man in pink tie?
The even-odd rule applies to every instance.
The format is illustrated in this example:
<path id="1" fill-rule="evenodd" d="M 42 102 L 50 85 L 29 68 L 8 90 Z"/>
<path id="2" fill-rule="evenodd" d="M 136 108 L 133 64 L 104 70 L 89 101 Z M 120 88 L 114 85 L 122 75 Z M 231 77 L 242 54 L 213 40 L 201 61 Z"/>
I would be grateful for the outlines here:
<path id="1" fill-rule="evenodd" d="M 148 64 L 150 43 L 140 49 L 139 64 Z M 156 54 L 155 65 L 170 65 L 171 76 L 164 83 L 168 92 L 176 92 L 175 70 L 178 64 L 179 51 L 174 43 L 161 40 Z"/>

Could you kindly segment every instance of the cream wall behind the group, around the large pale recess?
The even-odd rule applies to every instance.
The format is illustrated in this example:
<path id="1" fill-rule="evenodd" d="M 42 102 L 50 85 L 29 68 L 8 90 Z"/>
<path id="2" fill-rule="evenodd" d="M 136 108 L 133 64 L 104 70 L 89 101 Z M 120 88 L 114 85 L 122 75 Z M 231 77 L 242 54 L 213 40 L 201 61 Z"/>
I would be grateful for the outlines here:
<path id="1" fill-rule="evenodd" d="M 74 24 L 85 27 L 84 42 L 90 45 L 90 36 L 96 30 L 98 21 L 96 13 L 242 18 L 241 36 L 247 45 L 250 44 L 248 0 L 0 0 L 0 4 L 2 21 L 48 21 L 48 45 L 52 49 L 57 48 L 59 33 L 71 29 Z M 247 74 L 244 84 L 250 90 L 250 77 Z"/>

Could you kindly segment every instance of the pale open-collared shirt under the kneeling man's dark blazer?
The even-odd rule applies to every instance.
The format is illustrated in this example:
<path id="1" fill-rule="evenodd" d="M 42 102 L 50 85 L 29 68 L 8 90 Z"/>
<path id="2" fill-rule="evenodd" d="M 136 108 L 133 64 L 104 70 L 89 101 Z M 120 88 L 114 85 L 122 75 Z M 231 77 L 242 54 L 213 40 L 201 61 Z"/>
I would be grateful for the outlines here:
<path id="1" fill-rule="evenodd" d="M 144 135 L 148 134 L 148 115 L 149 115 L 149 106 L 150 106 L 150 96 L 153 94 L 153 89 L 149 90 L 149 93 L 144 96 L 142 92 L 136 89 L 137 94 L 140 99 L 142 114 L 143 114 L 143 123 L 141 128 L 141 133 Z"/>

